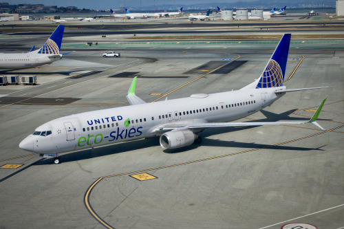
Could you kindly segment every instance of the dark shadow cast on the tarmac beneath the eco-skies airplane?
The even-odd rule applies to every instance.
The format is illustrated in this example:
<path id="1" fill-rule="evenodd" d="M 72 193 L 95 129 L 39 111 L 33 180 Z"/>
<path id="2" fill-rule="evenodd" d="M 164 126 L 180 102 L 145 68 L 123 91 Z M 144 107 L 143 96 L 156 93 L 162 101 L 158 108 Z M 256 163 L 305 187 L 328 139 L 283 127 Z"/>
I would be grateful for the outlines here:
<path id="1" fill-rule="evenodd" d="M 280 114 L 272 113 L 270 111 L 261 111 L 264 113 L 266 118 L 261 120 L 253 120 L 249 122 L 277 122 L 279 120 L 309 120 L 309 118 L 292 118 L 289 115 L 296 111 L 297 109 L 292 109 L 290 111 L 286 111 Z M 255 127 L 221 127 L 221 128 L 211 128 L 206 129 L 200 136 L 202 137 L 202 144 L 192 144 L 191 146 L 184 147 L 182 149 L 175 149 L 175 150 L 163 150 L 164 153 L 183 153 L 189 151 L 191 149 L 197 149 L 199 146 L 214 146 L 214 147 L 223 147 L 223 148 L 242 148 L 242 149 L 272 149 L 272 150 L 289 150 L 289 151 L 323 151 L 321 149 L 323 146 L 319 148 L 308 148 L 308 147 L 296 147 L 296 146 L 272 146 L 270 144 L 260 144 L 255 142 L 237 142 L 237 141 L 226 141 L 226 140 L 214 140 L 208 139 L 208 136 L 217 135 L 221 133 L 228 133 L 232 131 L 240 131 L 243 129 L 252 129 L 257 128 Z M 66 153 L 60 155 L 61 163 L 66 162 L 75 162 L 79 160 L 87 160 L 96 157 L 103 157 L 111 154 L 116 153 L 127 153 L 130 151 L 134 151 L 137 149 L 147 149 L 152 146 L 159 145 L 159 137 L 155 138 L 146 138 L 142 140 L 135 140 L 131 142 L 121 142 L 119 144 L 114 144 L 111 146 L 103 146 L 96 149 L 85 149 L 83 151 L 77 151 L 74 153 Z M 43 164 L 52 164 L 52 158 L 48 158 L 46 160 L 42 160 L 41 162 L 37 163 L 36 165 L 43 165 Z"/>

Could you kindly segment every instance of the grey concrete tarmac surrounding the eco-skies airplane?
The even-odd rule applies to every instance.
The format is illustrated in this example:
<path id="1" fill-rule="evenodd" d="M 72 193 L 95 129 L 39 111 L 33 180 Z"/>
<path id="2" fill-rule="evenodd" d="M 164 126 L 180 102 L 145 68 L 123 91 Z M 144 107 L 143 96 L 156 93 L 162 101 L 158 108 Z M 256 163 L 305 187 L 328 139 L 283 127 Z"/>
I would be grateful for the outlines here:
<path id="1" fill-rule="evenodd" d="M 22 50 L 34 44 L 25 41 Z M 240 89 L 259 77 L 275 46 L 122 47 L 120 58 L 103 58 L 106 47 L 79 49 L 52 65 L 6 72 L 34 74 L 39 85 L 0 87 L 0 228 L 343 228 L 343 43 L 291 45 L 285 85 L 330 89 L 286 94 L 239 120 L 308 120 L 327 98 L 318 121 L 325 131 L 207 129 L 201 145 L 178 151 L 151 138 L 64 153 L 58 165 L 18 147 L 54 118 L 129 105 L 133 76 L 146 102 Z"/>

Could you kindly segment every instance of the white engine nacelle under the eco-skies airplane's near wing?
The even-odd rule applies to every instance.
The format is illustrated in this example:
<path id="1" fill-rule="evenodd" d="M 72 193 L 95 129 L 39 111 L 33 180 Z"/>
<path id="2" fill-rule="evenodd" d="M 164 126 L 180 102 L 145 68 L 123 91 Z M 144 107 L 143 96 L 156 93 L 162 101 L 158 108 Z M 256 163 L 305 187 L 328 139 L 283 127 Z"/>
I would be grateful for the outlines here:
<path id="1" fill-rule="evenodd" d="M 160 146 L 164 149 L 178 149 L 193 144 L 198 136 L 193 131 L 169 131 L 160 135 Z"/>

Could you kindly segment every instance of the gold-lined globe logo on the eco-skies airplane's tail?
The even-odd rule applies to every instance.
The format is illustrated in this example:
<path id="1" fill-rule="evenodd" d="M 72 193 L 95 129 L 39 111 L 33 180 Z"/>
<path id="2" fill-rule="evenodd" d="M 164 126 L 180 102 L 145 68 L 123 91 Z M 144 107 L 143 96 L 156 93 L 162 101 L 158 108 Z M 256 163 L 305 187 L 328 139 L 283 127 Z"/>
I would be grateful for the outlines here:
<path id="1" fill-rule="evenodd" d="M 257 88 L 281 87 L 283 86 L 283 74 L 279 64 L 270 59 L 268 66 L 264 69 Z"/>

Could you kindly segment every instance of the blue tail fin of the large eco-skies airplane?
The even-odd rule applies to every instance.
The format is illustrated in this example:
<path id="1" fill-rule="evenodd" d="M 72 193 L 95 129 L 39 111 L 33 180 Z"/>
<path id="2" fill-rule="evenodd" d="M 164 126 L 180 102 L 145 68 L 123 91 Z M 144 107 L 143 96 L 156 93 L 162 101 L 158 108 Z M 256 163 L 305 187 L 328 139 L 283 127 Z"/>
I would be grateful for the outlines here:
<path id="1" fill-rule="evenodd" d="M 283 86 L 284 74 L 288 60 L 288 52 L 291 34 L 284 34 L 281 41 L 272 54 L 268 65 L 258 79 L 256 88 L 281 87 Z"/>

